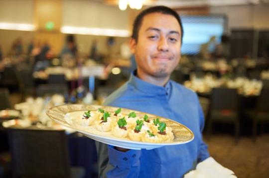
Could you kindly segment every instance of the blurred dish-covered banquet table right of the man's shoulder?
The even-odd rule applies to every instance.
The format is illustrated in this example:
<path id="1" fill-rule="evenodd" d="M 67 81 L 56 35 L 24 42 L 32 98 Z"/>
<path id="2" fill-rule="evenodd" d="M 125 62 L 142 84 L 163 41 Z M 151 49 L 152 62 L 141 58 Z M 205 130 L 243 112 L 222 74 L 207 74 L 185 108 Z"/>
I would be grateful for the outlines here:
<path id="1" fill-rule="evenodd" d="M 263 88 L 263 82 L 261 80 L 246 77 L 237 77 L 234 79 L 226 77 L 217 78 L 212 74 L 206 74 L 203 78 L 198 78 L 193 74 L 190 80 L 184 82 L 184 85 L 197 92 L 199 97 L 204 97 L 209 100 L 213 88 L 226 87 L 237 89 L 240 98 L 239 113 L 241 133 L 250 134 L 250 130 L 252 130 L 252 120 L 246 117 L 245 113 L 256 107 L 258 96 Z"/>

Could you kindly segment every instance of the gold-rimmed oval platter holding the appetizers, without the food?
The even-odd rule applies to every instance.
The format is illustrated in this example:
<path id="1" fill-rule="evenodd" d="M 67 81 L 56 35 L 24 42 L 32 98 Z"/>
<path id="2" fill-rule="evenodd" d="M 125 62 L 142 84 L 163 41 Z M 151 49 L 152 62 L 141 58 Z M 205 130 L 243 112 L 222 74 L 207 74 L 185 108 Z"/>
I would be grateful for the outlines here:
<path id="1" fill-rule="evenodd" d="M 159 118 L 161 122 L 165 122 L 168 127 L 172 128 L 174 139 L 171 142 L 165 143 L 132 141 L 131 139 L 129 139 L 129 137 L 118 138 L 114 136 L 111 131 L 103 132 L 96 129 L 95 126 L 82 126 L 77 123 L 76 119 L 82 116 L 84 112 L 97 111 L 100 108 L 109 113 L 114 113 L 116 110 L 119 109 L 116 107 L 100 105 L 67 104 L 47 109 L 46 114 L 50 119 L 58 122 L 59 124 L 77 130 L 78 132 L 96 141 L 128 149 L 154 149 L 162 146 L 188 143 L 194 138 L 193 132 L 181 123 L 178 123 L 171 119 L 166 119 L 148 113 L 138 112 L 125 108 L 122 108 L 121 111 L 123 115 L 128 115 L 129 113 L 134 112 L 139 118 L 142 118 L 145 114 L 148 115 L 149 119 Z"/>

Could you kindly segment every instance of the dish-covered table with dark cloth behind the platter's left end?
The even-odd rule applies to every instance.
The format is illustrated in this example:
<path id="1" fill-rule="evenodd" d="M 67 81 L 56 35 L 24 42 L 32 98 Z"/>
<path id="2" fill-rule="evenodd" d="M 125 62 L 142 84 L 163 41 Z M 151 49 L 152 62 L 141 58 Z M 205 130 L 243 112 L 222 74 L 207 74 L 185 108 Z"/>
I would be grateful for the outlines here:
<path id="1" fill-rule="evenodd" d="M 3 119 L 3 129 L 12 127 L 17 129 L 65 130 L 67 134 L 69 157 L 71 166 L 84 167 L 86 176 L 96 174 L 97 153 L 95 142 L 76 130 L 64 127 L 46 115 L 46 109 L 64 104 L 62 95 L 46 98 L 27 98 L 25 102 L 14 105 L 13 110 L 0 111 Z"/>

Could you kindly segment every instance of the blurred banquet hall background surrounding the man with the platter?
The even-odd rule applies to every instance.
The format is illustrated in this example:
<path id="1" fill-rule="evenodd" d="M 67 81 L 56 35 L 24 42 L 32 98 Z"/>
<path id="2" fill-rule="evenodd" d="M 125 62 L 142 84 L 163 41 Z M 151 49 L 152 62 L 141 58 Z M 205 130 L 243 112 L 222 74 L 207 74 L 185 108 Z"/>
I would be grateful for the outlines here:
<path id="1" fill-rule="evenodd" d="M 156 5 L 181 17 L 171 79 L 199 97 L 210 156 L 269 177 L 269 0 L 0 0 L 0 178 L 98 177 L 95 139 L 48 110 L 103 106 L 136 69 L 135 17 Z"/>

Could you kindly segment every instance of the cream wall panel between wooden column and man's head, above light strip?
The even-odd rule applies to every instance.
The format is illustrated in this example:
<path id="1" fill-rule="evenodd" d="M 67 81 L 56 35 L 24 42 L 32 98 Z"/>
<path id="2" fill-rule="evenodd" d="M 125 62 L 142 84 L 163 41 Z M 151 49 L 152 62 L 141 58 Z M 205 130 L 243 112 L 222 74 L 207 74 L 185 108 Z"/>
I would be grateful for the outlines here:
<path id="1" fill-rule="evenodd" d="M 90 0 L 64 0 L 63 26 L 128 29 L 128 10 Z"/>

